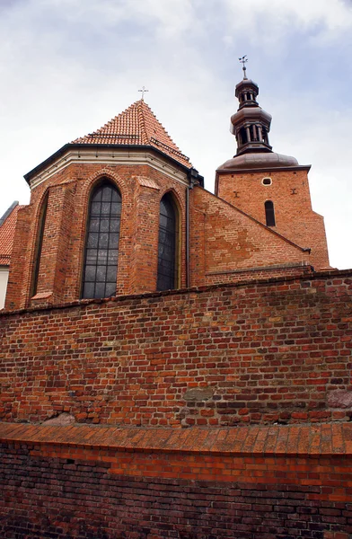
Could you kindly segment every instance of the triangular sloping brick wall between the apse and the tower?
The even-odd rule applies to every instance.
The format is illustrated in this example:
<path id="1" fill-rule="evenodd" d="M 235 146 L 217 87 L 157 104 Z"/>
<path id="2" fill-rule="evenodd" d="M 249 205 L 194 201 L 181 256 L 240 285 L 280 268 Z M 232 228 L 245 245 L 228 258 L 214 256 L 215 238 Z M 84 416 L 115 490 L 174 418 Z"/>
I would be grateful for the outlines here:
<path id="1" fill-rule="evenodd" d="M 190 240 L 192 286 L 211 284 L 215 273 L 216 282 L 228 282 L 234 270 L 297 266 L 310 260 L 308 252 L 201 188 L 192 190 Z M 220 272 L 228 274 L 224 280 Z M 237 280 L 234 273 L 232 280 Z"/>

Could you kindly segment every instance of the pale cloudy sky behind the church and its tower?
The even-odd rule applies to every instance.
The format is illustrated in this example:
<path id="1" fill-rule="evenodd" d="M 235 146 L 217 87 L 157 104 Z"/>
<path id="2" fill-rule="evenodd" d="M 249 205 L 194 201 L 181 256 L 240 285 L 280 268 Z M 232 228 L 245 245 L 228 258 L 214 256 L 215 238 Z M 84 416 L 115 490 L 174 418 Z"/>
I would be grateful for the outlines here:
<path id="1" fill-rule="evenodd" d="M 312 164 L 330 263 L 352 267 L 352 0 L 0 0 L 0 216 L 58 148 L 140 98 L 214 190 L 235 153 L 238 57 L 270 143 Z"/>

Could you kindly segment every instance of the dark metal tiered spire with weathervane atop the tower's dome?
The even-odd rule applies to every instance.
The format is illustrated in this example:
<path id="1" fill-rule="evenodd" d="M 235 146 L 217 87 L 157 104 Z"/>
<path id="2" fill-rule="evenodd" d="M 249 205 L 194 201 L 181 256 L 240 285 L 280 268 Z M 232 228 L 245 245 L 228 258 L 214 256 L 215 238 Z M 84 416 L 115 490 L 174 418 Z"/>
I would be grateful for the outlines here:
<path id="1" fill-rule="evenodd" d="M 247 77 L 247 57 L 239 58 L 243 67 L 243 80 L 236 85 L 235 96 L 240 106 L 231 117 L 231 132 L 237 140 L 237 155 L 271 152 L 268 143 L 271 116 L 257 102 L 258 84 Z"/>

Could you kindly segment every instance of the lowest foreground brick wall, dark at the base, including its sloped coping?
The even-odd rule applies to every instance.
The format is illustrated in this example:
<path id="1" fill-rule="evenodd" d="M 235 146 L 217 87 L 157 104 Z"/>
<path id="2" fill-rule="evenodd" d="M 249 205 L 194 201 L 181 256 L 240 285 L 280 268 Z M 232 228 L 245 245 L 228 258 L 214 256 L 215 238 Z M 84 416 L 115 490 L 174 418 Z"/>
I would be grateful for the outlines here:
<path id="1" fill-rule="evenodd" d="M 0 534 L 348 539 L 352 426 L 0 424 Z"/>

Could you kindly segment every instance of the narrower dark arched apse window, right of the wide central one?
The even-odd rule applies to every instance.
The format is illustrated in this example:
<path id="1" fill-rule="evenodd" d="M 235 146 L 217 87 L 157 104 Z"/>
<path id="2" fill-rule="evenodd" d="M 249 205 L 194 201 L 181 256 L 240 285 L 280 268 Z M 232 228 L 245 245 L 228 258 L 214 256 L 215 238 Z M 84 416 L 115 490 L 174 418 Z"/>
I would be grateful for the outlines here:
<path id="1" fill-rule="evenodd" d="M 170 193 L 160 202 L 159 245 L 158 245 L 158 290 L 177 287 L 178 268 L 178 215 Z"/>

